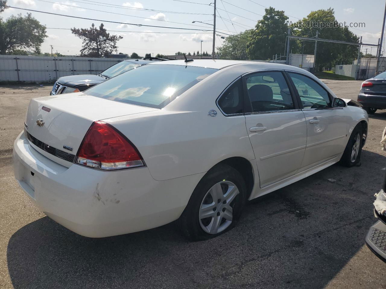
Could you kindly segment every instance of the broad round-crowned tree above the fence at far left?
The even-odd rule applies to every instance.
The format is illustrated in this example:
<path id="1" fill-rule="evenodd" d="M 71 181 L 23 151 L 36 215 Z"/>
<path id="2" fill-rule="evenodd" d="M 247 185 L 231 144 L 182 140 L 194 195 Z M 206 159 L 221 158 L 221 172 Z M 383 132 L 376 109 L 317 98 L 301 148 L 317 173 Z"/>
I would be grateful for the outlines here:
<path id="1" fill-rule="evenodd" d="M 32 49 L 40 53 L 40 46 L 47 37 L 46 26 L 41 25 L 31 13 L 12 15 L 5 21 L 0 17 L 0 54 L 17 49 Z"/>

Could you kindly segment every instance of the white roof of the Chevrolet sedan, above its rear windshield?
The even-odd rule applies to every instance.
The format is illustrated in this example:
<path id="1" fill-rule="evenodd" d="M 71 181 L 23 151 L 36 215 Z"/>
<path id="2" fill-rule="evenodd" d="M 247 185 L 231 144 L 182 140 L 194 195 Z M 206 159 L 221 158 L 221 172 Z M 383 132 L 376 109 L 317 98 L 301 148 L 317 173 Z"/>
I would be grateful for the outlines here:
<path id="1" fill-rule="evenodd" d="M 181 60 L 170 60 L 162 62 L 154 62 L 152 65 L 166 64 L 166 65 L 183 65 L 183 66 L 196 66 L 196 67 L 207 67 L 214 69 L 222 69 L 229 66 L 247 64 L 249 67 L 254 66 L 257 69 L 286 69 L 292 71 L 301 71 L 305 72 L 304 69 L 289 66 L 286 64 L 264 62 L 264 61 L 253 61 L 253 60 L 226 60 L 226 59 L 193 59 L 193 61 L 185 62 L 184 59 Z"/>

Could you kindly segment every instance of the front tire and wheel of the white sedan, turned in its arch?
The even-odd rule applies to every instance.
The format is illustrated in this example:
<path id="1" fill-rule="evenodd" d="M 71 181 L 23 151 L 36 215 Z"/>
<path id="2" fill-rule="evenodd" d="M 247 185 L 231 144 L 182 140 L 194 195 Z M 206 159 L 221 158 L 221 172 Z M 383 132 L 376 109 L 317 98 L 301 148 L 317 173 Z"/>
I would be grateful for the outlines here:
<path id="1" fill-rule="evenodd" d="M 349 141 L 347 142 L 346 148 L 340 159 L 342 165 L 351 167 L 356 166 L 361 162 L 362 154 L 362 145 L 363 145 L 363 131 L 361 124 L 353 129 Z"/>

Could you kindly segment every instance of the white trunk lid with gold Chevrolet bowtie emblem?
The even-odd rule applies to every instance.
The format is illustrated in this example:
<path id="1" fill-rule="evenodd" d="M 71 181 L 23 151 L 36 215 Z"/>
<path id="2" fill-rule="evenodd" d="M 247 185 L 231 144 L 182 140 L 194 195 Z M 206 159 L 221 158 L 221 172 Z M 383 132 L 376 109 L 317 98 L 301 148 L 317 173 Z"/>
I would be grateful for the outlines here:
<path id="1" fill-rule="evenodd" d="M 25 130 L 34 149 L 69 167 L 93 121 L 153 110 L 156 109 L 110 101 L 83 92 L 59 94 L 31 99 Z"/>

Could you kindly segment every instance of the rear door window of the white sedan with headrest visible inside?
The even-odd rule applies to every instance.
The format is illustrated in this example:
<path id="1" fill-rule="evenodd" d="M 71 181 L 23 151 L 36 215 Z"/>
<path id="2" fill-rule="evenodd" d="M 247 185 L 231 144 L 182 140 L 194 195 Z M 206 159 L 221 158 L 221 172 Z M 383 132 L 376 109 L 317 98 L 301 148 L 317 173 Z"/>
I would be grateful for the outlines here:
<path id="1" fill-rule="evenodd" d="M 294 109 L 293 99 L 281 72 L 258 72 L 245 77 L 254 112 Z"/>

